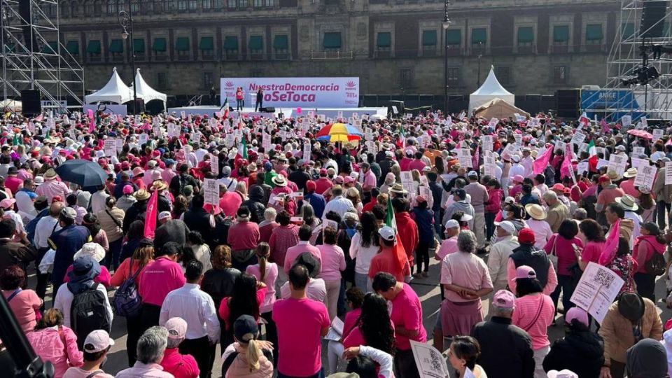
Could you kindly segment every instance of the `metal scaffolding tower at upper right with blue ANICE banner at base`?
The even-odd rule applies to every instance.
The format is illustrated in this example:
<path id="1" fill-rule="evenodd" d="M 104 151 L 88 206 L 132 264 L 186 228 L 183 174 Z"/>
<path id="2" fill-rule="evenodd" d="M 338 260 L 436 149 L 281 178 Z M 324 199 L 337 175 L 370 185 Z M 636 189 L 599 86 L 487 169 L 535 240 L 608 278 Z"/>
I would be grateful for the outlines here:
<path id="1" fill-rule="evenodd" d="M 631 115 L 633 122 L 641 116 L 672 119 L 672 55 L 664 54 L 660 59 L 653 59 L 652 53 L 647 53 L 648 66 L 655 67 L 660 76 L 650 80 L 648 85 L 623 83 L 637 76 L 637 70 L 642 66 L 643 45 L 672 45 L 672 0 L 664 0 L 664 15 L 661 12 L 658 22 L 640 30 L 643 9 L 652 1 L 659 0 L 621 1 L 620 22 L 607 60 L 606 85 L 591 94 L 596 98 L 584 98 L 587 100 L 584 103 L 596 104 L 590 112 L 598 118 L 612 122 L 624 115 Z M 661 36 L 642 37 L 656 27 L 663 27 Z"/>

